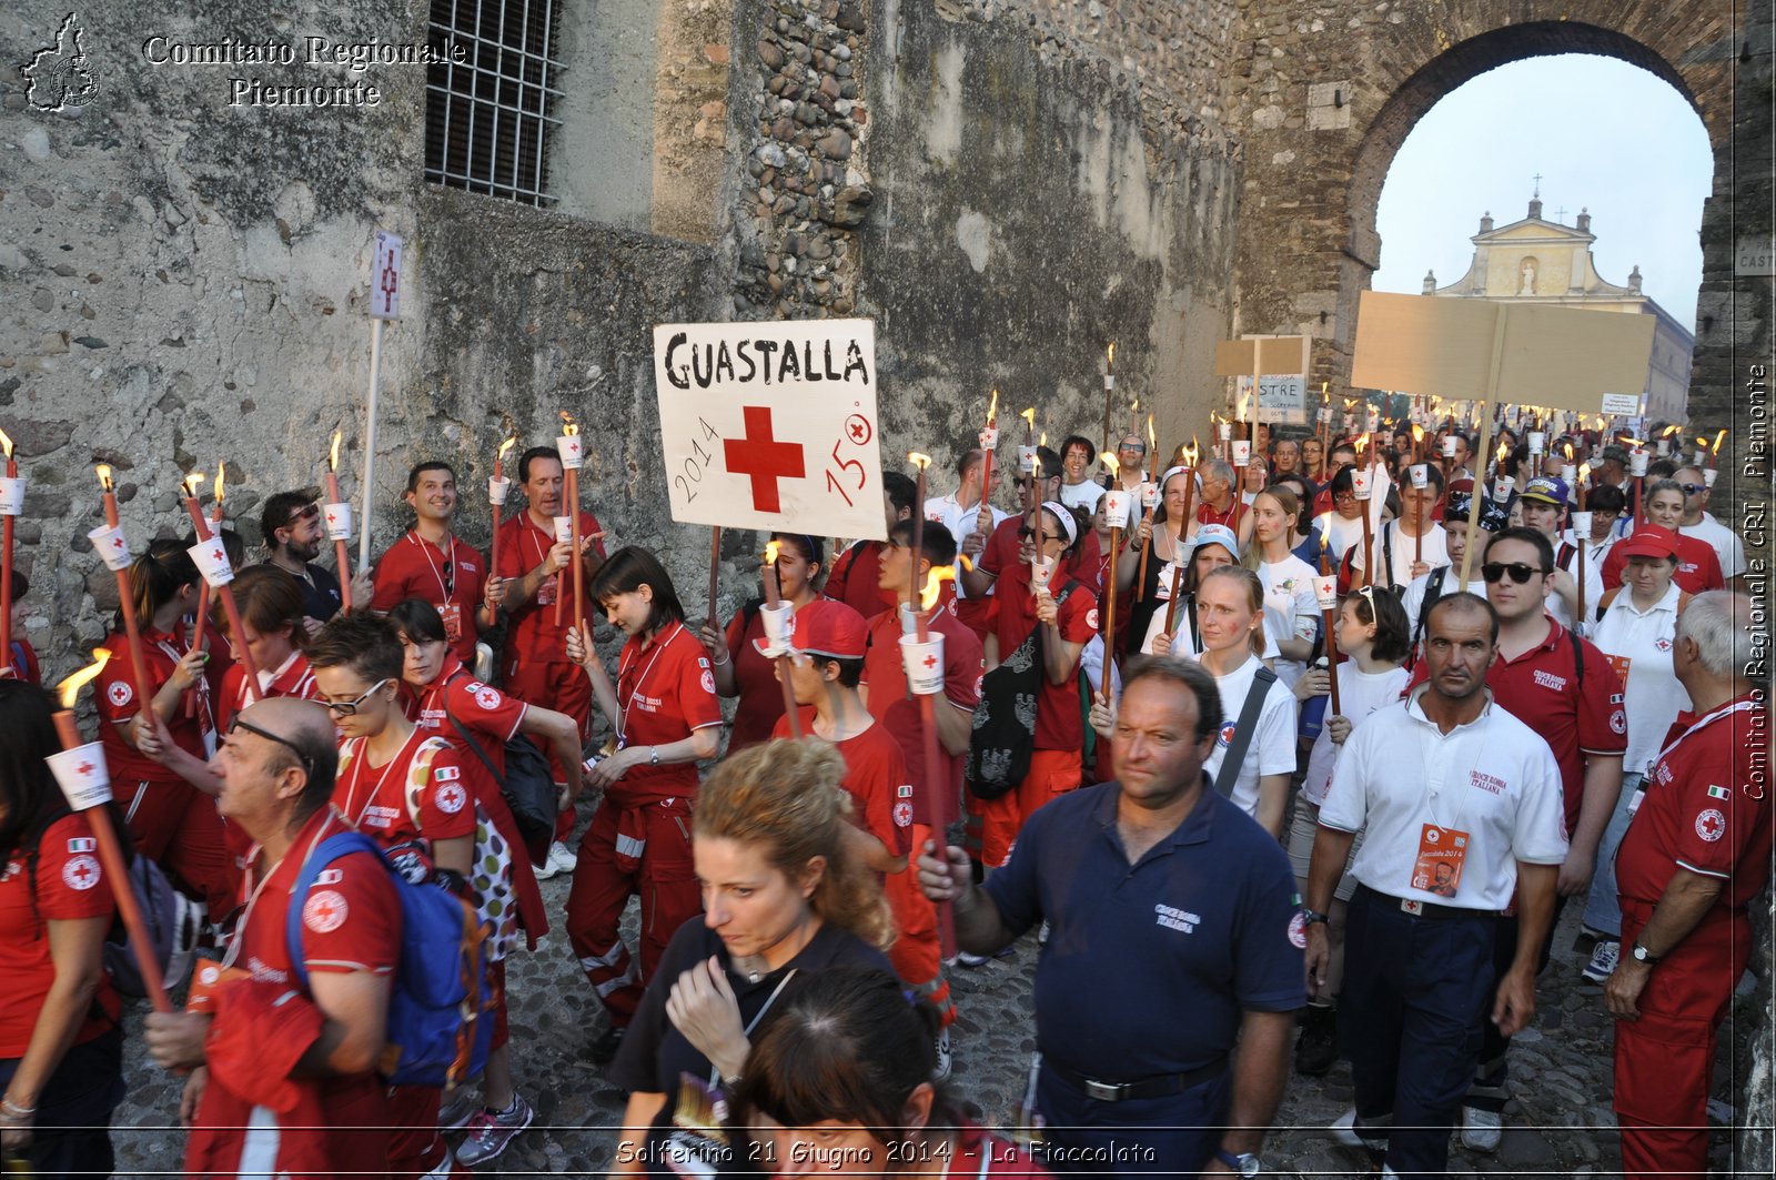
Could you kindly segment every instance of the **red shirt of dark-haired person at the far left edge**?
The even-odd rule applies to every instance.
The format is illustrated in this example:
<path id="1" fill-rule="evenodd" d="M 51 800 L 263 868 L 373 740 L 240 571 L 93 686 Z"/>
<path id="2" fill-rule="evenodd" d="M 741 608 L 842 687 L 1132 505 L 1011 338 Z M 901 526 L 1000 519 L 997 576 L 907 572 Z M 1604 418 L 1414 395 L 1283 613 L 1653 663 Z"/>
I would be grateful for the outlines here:
<path id="1" fill-rule="evenodd" d="M 28 876 L 32 860 L 36 883 Z M 44 828 L 36 858 L 16 848 L 0 864 L 0 979 L 5 979 L 0 986 L 0 1057 L 25 1056 L 37 1013 L 55 983 L 48 922 L 110 917 L 114 905 L 85 816 L 62 816 Z M 101 974 L 94 1009 L 75 1043 L 91 1041 L 115 1020 L 117 993 L 110 976 Z"/>

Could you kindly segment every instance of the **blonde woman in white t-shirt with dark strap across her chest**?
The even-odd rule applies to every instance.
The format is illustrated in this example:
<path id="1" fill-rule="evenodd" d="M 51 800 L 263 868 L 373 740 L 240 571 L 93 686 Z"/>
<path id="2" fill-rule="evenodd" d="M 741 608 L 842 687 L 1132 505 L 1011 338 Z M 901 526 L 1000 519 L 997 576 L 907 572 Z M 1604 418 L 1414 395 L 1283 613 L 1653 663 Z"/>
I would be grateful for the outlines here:
<path id="1" fill-rule="evenodd" d="M 1222 794 L 1280 839 L 1289 778 L 1295 775 L 1295 693 L 1280 681 L 1259 690 L 1257 722 L 1243 738 L 1245 757 L 1236 769 L 1227 768 L 1233 782 L 1222 782 L 1227 752 L 1241 741 L 1238 723 L 1247 697 L 1256 691 L 1257 674 L 1265 670 L 1265 585 L 1257 574 L 1238 565 L 1211 569 L 1197 586 L 1197 626 L 1202 631 L 1197 663 L 1215 677 L 1222 695 L 1220 736 L 1202 769 Z"/>

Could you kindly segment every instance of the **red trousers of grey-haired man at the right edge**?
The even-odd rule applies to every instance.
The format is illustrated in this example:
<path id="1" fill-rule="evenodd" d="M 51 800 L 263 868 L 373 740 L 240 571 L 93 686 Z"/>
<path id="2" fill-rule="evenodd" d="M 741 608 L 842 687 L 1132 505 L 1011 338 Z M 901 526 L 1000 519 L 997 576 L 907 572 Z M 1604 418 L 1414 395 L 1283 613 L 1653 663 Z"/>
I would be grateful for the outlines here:
<path id="1" fill-rule="evenodd" d="M 1621 945 L 1639 937 L 1652 906 L 1621 899 Z M 1746 970 L 1751 922 L 1710 910 L 1662 958 L 1639 997 L 1639 1020 L 1616 1022 L 1616 1121 L 1623 1176 L 1707 1175 L 1709 1080 L 1716 1031 Z"/>

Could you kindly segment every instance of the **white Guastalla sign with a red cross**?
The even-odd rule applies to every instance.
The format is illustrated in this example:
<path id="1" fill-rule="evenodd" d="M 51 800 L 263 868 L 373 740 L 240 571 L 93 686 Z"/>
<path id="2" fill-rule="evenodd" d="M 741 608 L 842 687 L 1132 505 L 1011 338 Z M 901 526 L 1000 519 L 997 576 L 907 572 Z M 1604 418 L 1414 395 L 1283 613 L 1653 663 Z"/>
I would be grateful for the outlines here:
<path id="1" fill-rule="evenodd" d="M 671 517 L 886 540 L 876 323 L 664 323 L 654 380 Z"/>

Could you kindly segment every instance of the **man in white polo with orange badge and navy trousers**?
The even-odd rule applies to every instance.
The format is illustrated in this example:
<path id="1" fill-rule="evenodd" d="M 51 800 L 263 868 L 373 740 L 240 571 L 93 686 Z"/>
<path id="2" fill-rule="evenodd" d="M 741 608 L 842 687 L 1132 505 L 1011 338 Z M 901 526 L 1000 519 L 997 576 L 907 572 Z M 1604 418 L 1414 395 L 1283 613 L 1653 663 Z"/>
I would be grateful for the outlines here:
<path id="1" fill-rule="evenodd" d="M 1430 681 L 1344 743 L 1307 871 L 1307 986 L 1330 956 L 1325 910 L 1350 871 L 1339 1032 L 1357 1089 L 1357 1136 L 1394 1175 L 1442 1175 L 1449 1132 L 1479 1064 L 1494 997 L 1494 928 L 1517 890 L 1517 958 L 1497 979 L 1506 1036 L 1534 1015 L 1536 953 L 1566 858 L 1559 764 L 1547 741 L 1492 702 L 1499 618 L 1472 594 L 1431 606 Z M 1472 864 L 1469 864 L 1472 862 Z M 1472 1029 L 1472 1034 L 1453 1031 Z"/>

